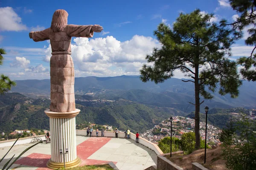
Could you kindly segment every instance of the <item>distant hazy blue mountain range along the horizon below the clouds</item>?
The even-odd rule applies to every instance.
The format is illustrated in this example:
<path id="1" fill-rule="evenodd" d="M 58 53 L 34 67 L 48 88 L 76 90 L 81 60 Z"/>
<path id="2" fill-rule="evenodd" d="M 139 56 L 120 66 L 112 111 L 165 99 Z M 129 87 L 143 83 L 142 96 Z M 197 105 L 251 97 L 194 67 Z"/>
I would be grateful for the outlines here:
<path id="1" fill-rule="evenodd" d="M 18 92 L 32 98 L 48 97 L 50 80 L 30 79 L 17 80 L 17 86 L 12 92 Z M 218 91 L 218 90 L 217 90 Z M 239 96 L 232 99 L 228 94 L 213 94 L 214 98 L 205 100 L 209 108 L 256 107 L 256 83 L 243 81 L 239 88 Z M 177 108 L 183 112 L 194 111 L 194 84 L 182 82 L 181 79 L 171 78 L 163 83 L 142 82 L 139 76 L 119 77 L 79 77 L 75 78 L 75 94 L 90 95 L 99 99 L 126 99 L 144 105 Z M 201 101 L 204 100 L 201 97 Z"/>

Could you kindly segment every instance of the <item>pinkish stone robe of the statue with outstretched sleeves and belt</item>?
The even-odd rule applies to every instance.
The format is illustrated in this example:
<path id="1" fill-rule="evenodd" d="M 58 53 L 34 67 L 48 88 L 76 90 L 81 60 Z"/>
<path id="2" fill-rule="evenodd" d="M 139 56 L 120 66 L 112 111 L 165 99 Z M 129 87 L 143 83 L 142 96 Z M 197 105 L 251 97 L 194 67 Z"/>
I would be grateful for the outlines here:
<path id="1" fill-rule="evenodd" d="M 51 28 L 32 33 L 35 42 L 50 40 L 52 57 L 50 59 L 51 105 L 50 111 L 70 112 L 76 110 L 74 82 L 75 72 L 71 55 L 72 37 L 93 37 L 92 25 L 66 25 L 60 32 Z"/>

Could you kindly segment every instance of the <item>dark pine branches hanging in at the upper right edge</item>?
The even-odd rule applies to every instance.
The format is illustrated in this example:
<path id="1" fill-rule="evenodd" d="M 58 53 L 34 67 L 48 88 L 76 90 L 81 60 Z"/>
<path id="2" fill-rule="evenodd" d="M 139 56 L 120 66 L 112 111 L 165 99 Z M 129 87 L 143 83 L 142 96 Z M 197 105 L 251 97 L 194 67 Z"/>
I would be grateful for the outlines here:
<path id="1" fill-rule="evenodd" d="M 253 54 L 256 49 L 256 1 L 255 0 L 230 0 L 230 5 L 233 10 L 239 14 L 236 21 L 232 24 L 234 29 L 239 30 L 240 34 L 246 28 L 246 26 L 252 25 L 247 30 L 249 37 L 245 40 L 246 45 L 255 46 L 250 56 L 241 57 L 238 59 L 238 63 L 243 66 L 240 70 L 244 78 L 251 81 L 256 81 L 256 54 Z"/>

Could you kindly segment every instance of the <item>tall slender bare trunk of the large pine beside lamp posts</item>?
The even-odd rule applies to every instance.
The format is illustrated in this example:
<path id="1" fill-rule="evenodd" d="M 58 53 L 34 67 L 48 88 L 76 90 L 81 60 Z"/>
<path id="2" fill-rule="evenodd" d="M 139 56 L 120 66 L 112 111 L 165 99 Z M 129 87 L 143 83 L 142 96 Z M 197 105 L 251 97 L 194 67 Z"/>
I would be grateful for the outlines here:
<path id="1" fill-rule="evenodd" d="M 199 98 L 199 65 L 195 65 L 195 149 L 200 148 L 200 98 Z"/>

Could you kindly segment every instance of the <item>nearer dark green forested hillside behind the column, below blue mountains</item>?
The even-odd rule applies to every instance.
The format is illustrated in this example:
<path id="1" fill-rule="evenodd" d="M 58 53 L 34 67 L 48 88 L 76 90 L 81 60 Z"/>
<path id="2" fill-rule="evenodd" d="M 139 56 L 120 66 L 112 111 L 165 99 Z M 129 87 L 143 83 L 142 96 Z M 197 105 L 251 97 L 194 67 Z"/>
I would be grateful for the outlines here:
<path id="1" fill-rule="evenodd" d="M 88 96 L 77 96 L 78 99 Z M 90 98 L 90 97 L 89 97 Z M 18 93 L 0 96 L 0 131 L 9 132 L 15 129 L 49 129 L 49 118 L 44 110 L 49 108 L 49 99 L 32 99 Z M 172 108 L 150 108 L 137 102 L 117 100 L 77 101 L 76 108 L 81 112 L 76 117 L 76 123 L 84 121 L 100 125 L 113 125 L 120 130 L 126 128 L 143 132 L 152 128 L 171 114 L 183 115 L 183 112 Z"/>

